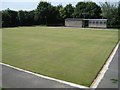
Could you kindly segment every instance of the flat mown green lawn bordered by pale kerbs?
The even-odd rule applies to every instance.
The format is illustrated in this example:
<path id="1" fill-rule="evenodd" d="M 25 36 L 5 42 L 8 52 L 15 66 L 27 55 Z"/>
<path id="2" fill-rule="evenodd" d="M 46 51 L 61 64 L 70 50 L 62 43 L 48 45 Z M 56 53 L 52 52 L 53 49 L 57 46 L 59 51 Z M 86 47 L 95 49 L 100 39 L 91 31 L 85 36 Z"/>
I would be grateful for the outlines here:
<path id="1" fill-rule="evenodd" d="M 4 28 L 3 62 L 89 86 L 117 40 L 116 30 Z"/>

